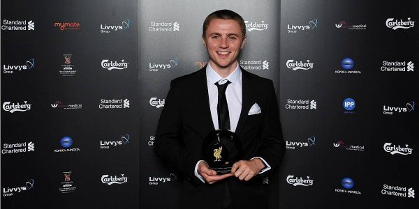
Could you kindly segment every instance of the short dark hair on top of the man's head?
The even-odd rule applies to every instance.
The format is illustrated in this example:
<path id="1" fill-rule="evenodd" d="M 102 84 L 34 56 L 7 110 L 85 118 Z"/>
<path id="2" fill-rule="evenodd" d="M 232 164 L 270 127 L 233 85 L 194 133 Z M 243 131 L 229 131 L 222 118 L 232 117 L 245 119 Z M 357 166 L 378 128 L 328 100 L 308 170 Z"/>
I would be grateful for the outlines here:
<path id="1" fill-rule="evenodd" d="M 214 19 L 235 20 L 242 29 L 243 37 L 246 37 L 246 24 L 244 24 L 243 17 L 232 10 L 216 10 L 214 13 L 208 15 L 203 24 L 203 36 L 205 36 L 205 32 L 207 31 L 210 22 Z"/>

